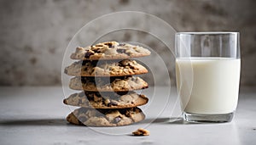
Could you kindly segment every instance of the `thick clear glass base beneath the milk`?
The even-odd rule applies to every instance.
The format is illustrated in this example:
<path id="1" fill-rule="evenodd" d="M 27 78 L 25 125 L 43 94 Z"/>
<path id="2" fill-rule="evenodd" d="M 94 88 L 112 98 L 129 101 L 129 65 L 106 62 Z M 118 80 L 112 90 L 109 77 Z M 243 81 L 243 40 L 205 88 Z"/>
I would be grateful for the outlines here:
<path id="1" fill-rule="evenodd" d="M 191 114 L 183 112 L 183 119 L 192 123 L 222 123 L 230 122 L 233 119 L 234 113 L 230 114 Z"/>

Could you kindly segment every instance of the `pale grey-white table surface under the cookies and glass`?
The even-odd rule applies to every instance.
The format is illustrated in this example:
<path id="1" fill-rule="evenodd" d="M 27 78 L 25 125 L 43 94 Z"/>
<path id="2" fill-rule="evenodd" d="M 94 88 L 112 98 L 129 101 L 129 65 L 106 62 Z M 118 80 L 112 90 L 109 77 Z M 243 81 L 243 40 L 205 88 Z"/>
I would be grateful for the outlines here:
<path id="1" fill-rule="evenodd" d="M 148 137 L 133 137 L 127 132 L 111 135 L 106 133 L 111 131 L 109 127 L 95 131 L 69 125 L 65 118 L 70 109 L 62 99 L 62 89 L 57 86 L 0 87 L 0 144 L 256 144 L 255 88 L 241 89 L 236 116 L 230 123 L 172 122 L 166 120 L 172 107 L 166 106 L 150 125 L 145 122 L 130 125 L 131 129 L 145 126 L 150 131 Z"/>

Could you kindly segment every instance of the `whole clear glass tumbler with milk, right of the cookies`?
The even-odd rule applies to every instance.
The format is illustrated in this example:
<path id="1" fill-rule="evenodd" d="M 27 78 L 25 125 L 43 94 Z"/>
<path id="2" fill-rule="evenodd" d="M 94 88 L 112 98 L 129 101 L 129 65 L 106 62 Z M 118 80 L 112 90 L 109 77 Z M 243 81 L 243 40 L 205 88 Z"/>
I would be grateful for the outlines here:
<path id="1" fill-rule="evenodd" d="M 179 32 L 175 49 L 183 119 L 230 122 L 239 92 L 239 33 Z"/>

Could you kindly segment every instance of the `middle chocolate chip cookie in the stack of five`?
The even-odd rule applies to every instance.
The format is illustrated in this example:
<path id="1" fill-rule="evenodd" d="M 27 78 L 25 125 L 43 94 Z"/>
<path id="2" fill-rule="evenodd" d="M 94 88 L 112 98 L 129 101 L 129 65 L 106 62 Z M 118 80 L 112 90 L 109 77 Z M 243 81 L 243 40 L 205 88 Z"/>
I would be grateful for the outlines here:
<path id="1" fill-rule="evenodd" d="M 88 92 L 127 92 L 148 88 L 148 83 L 137 76 L 73 77 L 69 87 Z"/>

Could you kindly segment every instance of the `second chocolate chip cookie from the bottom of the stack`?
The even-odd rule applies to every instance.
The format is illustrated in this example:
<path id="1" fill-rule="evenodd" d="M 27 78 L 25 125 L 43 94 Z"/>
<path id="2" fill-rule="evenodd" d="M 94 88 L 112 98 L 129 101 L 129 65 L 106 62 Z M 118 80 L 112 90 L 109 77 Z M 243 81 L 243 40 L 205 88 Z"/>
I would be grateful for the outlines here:
<path id="1" fill-rule="evenodd" d="M 63 100 L 67 105 L 94 109 L 126 109 L 148 103 L 148 98 L 136 92 L 79 92 Z"/>

